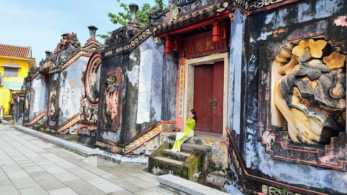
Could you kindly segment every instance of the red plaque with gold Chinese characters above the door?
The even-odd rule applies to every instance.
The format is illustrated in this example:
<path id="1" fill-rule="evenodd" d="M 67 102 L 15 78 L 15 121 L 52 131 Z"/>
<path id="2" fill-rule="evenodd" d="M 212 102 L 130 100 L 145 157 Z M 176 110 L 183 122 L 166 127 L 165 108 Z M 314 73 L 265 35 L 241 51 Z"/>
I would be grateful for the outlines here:
<path id="1" fill-rule="evenodd" d="M 187 58 L 228 51 L 226 39 L 220 39 L 218 42 L 213 42 L 212 39 L 212 31 L 186 38 L 185 52 Z"/>

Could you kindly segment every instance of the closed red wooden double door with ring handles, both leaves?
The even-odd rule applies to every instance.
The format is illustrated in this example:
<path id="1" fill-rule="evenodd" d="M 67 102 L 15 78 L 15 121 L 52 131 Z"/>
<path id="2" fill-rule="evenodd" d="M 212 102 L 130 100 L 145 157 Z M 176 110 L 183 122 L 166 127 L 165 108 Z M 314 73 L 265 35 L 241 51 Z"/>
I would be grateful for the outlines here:
<path id="1" fill-rule="evenodd" d="M 198 117 L 196 131 L 222 133 L 223 62 L 195 66 L 194 109 Z"/>

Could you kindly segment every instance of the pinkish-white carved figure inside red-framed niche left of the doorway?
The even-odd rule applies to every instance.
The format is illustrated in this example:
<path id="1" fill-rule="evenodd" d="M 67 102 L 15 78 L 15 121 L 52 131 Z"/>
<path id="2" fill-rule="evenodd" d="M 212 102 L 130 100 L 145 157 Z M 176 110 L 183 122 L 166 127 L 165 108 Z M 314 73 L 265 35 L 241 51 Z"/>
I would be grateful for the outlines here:
<path id="1" fill-rule="evenodd" d="M 114 79 L 112 79 L 114 78 Z M 108 82 L 112 83 L 112 85 L 109 85 L 109 87 L 106 89 L 106 104 L 108 105 L 111 120 L 115 120 L 117 116 L 117 110 L 118 110 L 118 96 L 119 96 L 119 84 L 118 80 L 116 80 L 116 77 L 112 77 Z M 111 84 L 110 83 L 110 84 Z"/>

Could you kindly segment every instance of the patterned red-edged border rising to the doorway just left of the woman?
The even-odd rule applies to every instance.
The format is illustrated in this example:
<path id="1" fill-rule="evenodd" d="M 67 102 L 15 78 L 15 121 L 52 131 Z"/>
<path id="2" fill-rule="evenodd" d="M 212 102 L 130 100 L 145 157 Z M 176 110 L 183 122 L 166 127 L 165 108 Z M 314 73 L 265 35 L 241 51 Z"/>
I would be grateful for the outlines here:
<path id="1" fill-rule="evenodd" d="M 113 153 L 127 154 L 159 135 L 176 130 L 176 121 L 160 121 L 125 144 L 112 143 L 96 138 L 95 146 Z"/>

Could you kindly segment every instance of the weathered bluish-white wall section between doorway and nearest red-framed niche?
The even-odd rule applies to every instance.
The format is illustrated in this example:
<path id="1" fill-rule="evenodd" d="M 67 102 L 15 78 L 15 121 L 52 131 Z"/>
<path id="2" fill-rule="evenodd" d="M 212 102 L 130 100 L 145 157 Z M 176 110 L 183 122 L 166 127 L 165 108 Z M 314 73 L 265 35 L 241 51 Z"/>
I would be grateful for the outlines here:
<path id="1" fill-rule="evenodd" d="M 123 74 L 121 122 L 117 131 L 102 130 L 98 122 L 97 138 L 124 144 L 158 121 L 175 120 L 177 59 L 176 53 L 164 54 L 152 36 L 129 53 L 103 59 L 100 91 L 108 69 L 120 67 Z"/>

